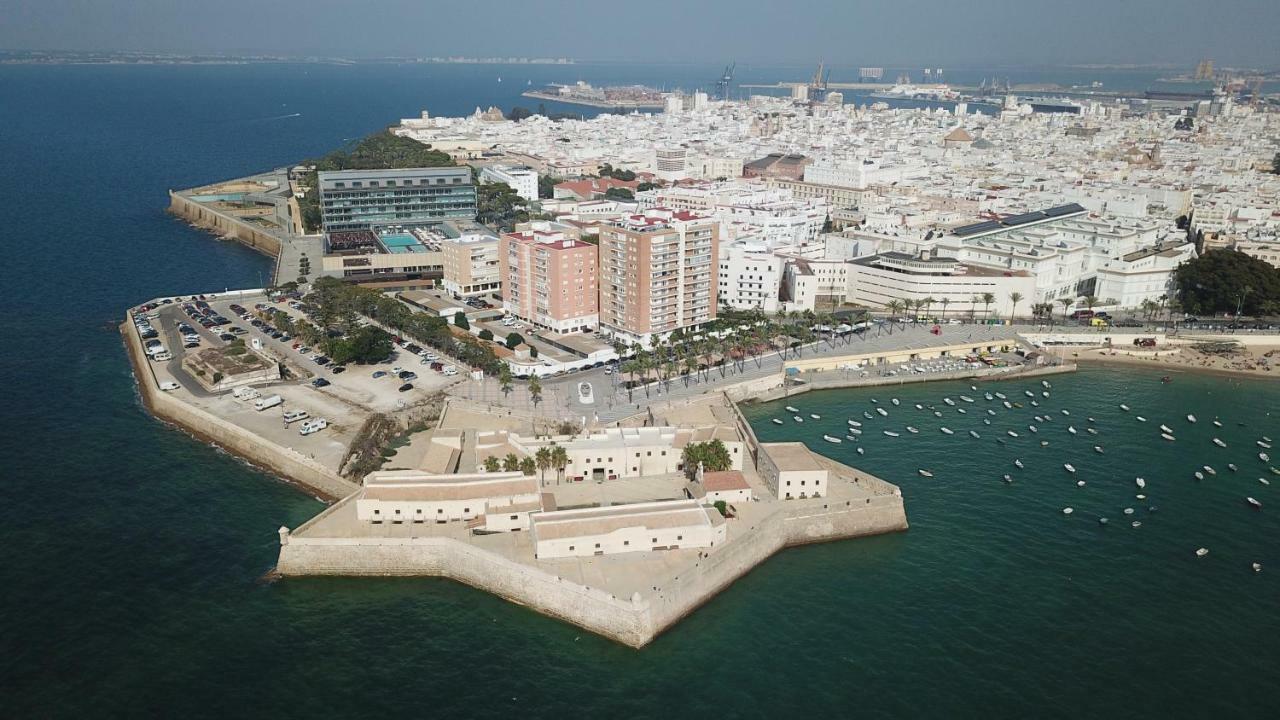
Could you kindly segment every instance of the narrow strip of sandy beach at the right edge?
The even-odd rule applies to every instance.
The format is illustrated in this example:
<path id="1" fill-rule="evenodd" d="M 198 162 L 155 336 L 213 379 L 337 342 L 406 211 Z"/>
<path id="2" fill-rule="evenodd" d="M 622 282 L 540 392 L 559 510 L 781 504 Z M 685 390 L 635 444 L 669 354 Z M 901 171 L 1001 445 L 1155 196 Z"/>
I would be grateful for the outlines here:
<path id="1" fill-rule="evenodd" d="M 1147 351 L 1130 351 L 1128 348 L 1061 350 L 1055 352 L 1055 355 L 1078 363 L 1137 365 L 1166 373 L 1193 372 L 1253 378 L 1280 377 L 1280 345 L 1240 347 L 1231 355 L 1201 352 L 1187 345 L 1162 345 Z"/>

